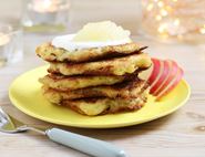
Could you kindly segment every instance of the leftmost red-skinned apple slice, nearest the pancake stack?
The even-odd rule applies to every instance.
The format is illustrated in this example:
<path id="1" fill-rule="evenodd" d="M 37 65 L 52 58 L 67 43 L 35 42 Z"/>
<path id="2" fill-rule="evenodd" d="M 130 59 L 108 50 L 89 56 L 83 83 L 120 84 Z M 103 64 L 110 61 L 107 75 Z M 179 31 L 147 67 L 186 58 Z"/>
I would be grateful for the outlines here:
<path id="1" fill-rule="evenodd" d="M 157 83 L 158 78 L 161 77 L 164 71 L 164 63 L 162 62 L 162 60 L 152 59 L 152 62 L 154 67 L 151 76 L 148 77 L 151 88 Z"/>

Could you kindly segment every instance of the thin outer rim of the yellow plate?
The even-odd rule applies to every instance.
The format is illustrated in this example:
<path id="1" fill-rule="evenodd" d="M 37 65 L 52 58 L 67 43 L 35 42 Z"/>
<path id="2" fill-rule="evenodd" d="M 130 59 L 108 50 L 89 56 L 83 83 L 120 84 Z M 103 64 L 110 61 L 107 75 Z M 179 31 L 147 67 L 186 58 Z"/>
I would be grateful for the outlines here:
<path id="1" fill-rule="evenodd" d="M 33 69 L 33 70 L 30 70 L 28 72 L 32 72 L 34 70 L 38 70 L 38 69 L 42 69 L 42 67 L 45 67 L 47 65 L 44 66 L 40 66 L 40 67 L 37 67 L 37 69 Z M 127 123 L 121 123 L 121 124 L 106 124 L 106 125 L 93 125 L 93 124 L 73 124 L 73 123 L 63 123 L 62 121 L 58 121 L 58 119 L 51 119 L 51 118 L 48 118 L 48 117 L 44 117 L 44 116 L 41 116 L 41 115 L 38 115 L 38 114 L 34 114 L 33 112 L 22 107 L 21 105 L 17 105 L 16 104 L 16 101 L 14 101 L 14 97 L 12 96 L 12 92 L 11 92 L 11 88 L 13 86 L 13 84 L 24 74 L 28 74 L 28 72 L 24 72 L 23 74 L 21 74 L 20 76 L 18 76 L 14 81 L 12 81 L 11 85 L 9 86 L 9 100 L 11 102 L 11 104 L 17 107 L 19 111 L 21 111 L 22 113 L 35 118 L 35 119 L 40 119 L 40 121 L 43 121 L 43 122 L 48 122 L 48 123 L 51 123 L 51 124 L 57 124 L 57 125 L 63 125 L 63 126 L 71 126 L 71 127 L 78 127 L 78 128 L 119 128 L 119 127 L 126 127 L 126 126 L 133 126 L 133 125 L 139 125 L 139 124 L 143 124 L 143 123 L 147 123 L 147 122 L 151 122 L 151 121 L 154 121 L 154 119 L 157 119 L 157 118 L 161 118 L 161 117 L 164 117 L 166 115 L 170 115 L 172 113 L 174 113 L 175 111 L 180 109 L 183 105 L 185 105 L 185 103 L 188 101 L 189 96 L 191 96 L 191 86 L 189 84 L 184 80 L 182 78 L 181 83 L 183 83 L 185 86 L 186 86 L 186 90 L 187 90 L 187 95 L 186 97 L 175 107 L 173 107 L 172 109 L 168 109 L 167 112 L 164 112 L 164 113 L 161 113 L 158 115 L 155 115 L 151 118 L 146 118 L 144 121 L 135 121 L 135 122 L 127 122 Z"/>

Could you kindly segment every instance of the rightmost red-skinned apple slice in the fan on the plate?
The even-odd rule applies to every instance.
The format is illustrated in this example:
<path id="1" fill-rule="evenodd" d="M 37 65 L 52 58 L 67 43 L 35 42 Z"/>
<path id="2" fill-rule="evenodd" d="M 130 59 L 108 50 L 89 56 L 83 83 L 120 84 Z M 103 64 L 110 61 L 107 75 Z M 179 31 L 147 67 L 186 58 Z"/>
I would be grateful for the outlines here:
<path id="1" fill-rule="evenodd" d="M 183 70 L 181 67 L 177 69 L 177 74 L 176 76 L 172 80 L 172 82 L 164 87 L 156 96 L 156 100 L 160 100 L 162 96 L 166 95 L 167 93 L 170 93 L 174 87 L 177 86 L 177 84 L 181 82 L 182 77 L 183 77 Z"/>

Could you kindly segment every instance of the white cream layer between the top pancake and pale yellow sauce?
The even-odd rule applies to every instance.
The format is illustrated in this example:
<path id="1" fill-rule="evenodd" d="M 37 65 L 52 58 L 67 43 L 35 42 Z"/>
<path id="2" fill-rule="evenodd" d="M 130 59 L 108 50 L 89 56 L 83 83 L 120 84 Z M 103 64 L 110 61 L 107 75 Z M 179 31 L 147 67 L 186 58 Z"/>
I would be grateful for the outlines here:
<path id="1" fill-rule="evenodd" d="M 75 50 L 82 50 L 82 49 L 90 49 L 90 48 L 102 48 L 107 45 L 119 45 L 119 44 L 125 44 L 130 43 L 131 39 L 125 38 L 123 40 L 112 40 L 112 41 L 85 41 L 85 42 L 79 42 L 73 41 L 73 38 L 75 34 L 66 34 L 66 35 L 60 35 L 55 36 L 51 44 L 55 48 L 62 48 L 68 50 L 69 52 L 75 51 Z"/>

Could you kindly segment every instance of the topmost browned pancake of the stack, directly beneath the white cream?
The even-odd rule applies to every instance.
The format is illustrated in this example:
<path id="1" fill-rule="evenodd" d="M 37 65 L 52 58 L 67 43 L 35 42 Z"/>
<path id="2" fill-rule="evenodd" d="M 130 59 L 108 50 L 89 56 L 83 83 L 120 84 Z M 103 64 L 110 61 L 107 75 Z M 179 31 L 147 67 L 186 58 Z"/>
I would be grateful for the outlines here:
<path id="1" fill-rule="evenodd" d="M 54 48 L 51 43 L 43 43 L 35 50 L 38 56 L 49 62 L 68 62 L 82 63 L 111 59 L 115 56 L 124 56 L 132 53 L 141 53 L 147 46 L 140 46 L 132 42 L 121 45 L 109 45 L 104 48 L 92 48 L 75 50 L 73 52 L 66 51 L 62 48 Z"/>

